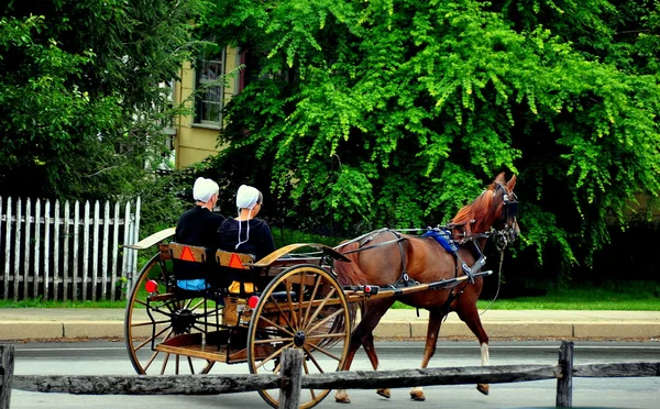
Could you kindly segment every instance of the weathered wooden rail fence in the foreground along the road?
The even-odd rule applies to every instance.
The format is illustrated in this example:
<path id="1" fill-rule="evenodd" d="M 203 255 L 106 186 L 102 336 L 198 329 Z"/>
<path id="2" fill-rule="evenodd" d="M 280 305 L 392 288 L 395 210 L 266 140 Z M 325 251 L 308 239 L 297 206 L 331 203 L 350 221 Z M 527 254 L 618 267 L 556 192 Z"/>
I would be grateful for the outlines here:
<path id="1" fill-rule="evenodd" d="M 279 409 L 298 408 L 300 389 L 375 389 L 430 385 L 503 384 L 557 379 L 556 406 L 572 407 L 573 377 L 660 376 L 660 362 L 573 365 L 573 342 L 562 342 L 557 365 L 465 366 L 350 371 L 302 375 L 302 353 L 283 352 L 282 375 L 13 375 L 13 345 L 0 345 L 0 409 L 11 389 L 76 395 L 218 395 L 279 389 Z M 516 402 L 512 402 L 515 405 Z"/>

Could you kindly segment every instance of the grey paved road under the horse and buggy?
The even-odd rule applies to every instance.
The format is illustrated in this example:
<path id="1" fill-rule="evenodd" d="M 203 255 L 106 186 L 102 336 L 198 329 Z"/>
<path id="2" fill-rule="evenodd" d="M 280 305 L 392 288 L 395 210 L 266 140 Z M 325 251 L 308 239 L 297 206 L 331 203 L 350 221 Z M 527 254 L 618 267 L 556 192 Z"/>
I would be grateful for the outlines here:
<path id="1" fill-rule="evenodd" d="M 553 365 L 558 360 L 559 341 L 498 341 L 491 345 L 492 365 Z M 382 369 L 416 368 L 422 354 L 420 342 L 377 342 Z M 659 342 L 576 342 L 575 364 L 613 362 L 660 362 Z M 476 342 L 440 341 L 431 366 L 480 365 Z M 353 369 L 371 368 L 360 352 Z M 133 368 L 122 342 L 28 343 L 16 345 L 16 375 L 131 375 Z M 215 366 L 212 373 L 246 374 L 245 365 Z M 557 382 L 540 380 L 491 385 L 491 395 L 483 396 L 474 385 L 425 387 L 426 402 L 408 398 L 407 389 L 394 389 L 391 399 L 373 390 L 350 390 L 352 404 L 346 409 L 383 408 L 540 408 L 553 407 Z M 573 407 L 657 408 L 660 401 L 660 378 L 574 378 Z M 12 409 L 132 409 L 157 407 L 178 408 L 266 408 L 256 393 L 219 396 L 74 396 L 13 390 Z M 332 395 L 319 406 L 343 408 Z"/>

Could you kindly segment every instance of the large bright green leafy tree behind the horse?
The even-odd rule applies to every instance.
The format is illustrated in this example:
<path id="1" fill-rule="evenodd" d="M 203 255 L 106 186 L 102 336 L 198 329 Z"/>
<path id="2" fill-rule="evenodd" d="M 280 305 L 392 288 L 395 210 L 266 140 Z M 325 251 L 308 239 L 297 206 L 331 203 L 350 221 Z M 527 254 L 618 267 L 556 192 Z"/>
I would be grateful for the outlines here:
<path id="1" fill-rule="evenodd" d="M 653 0 L 215 0 L 202 29 L 248 56 L 218 173 L 267 183 L 289 215 L 369 229 L 447 222 L 505 170 L 525 273 L 590 266 L 634 194 L 660 190 L 659 13 Z"/>

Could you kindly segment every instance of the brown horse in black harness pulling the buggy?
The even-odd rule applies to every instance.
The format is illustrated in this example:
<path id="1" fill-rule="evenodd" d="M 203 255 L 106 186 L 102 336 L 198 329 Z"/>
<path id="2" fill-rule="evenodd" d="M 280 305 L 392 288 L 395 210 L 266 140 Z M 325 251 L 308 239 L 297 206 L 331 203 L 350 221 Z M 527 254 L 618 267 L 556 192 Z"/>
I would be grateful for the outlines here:
<path id="1" fill-rule="evenodd" d="M 469 274 L 464 269 L 470 269 L 468 267 L 475 266 L 475 263 L 471 273 L 476 272 L 485 261 L 482 251 L 488 236 L 494 235 L 498 240 L 498 247 L 504 250 L 519 234 L 517 202 L 513 192 L 515 185 L 515 176 L 505 181 L 504 174 L 499 174 L 481 196 L 457 213 L 449 229 L 459 244 L 458 255 L 446 251 L 432 237 L 400 234 L 391 230 L 376 231 L 338 246 L 351 259 L 351 263 L 336 262 L 339 281 L 342 285 L 378 286 L 433 283 Z M 482 287 L 483 278 L 475 277 L 463 280 L 451 289 L 426 290 L 397 298 L 408 306 L 429 311 L 422 368 L 427 367 L 433 356 L 440 324 L 451 311 L 455 311 L 476 335 L 481 344 L 482 365 L 488 365 L 488 335 L 476 309 Z M 395 298 L 389 297 L 364 302 L 362 320 L 351 335 L 345 371 L 350 369 L 360 345 L 364 346 L 372 366 L 377 369 L 378 357 L 374 350 L 373 330 L 394 301 Z M 480 384 L 476 388 L 484 395 L 488 394 L 486 384 Z M 389 397 L 388 389 L 378 389 L 377 393 Z M 351 401 L 345 389 L 339 389 L 334 398 L 338 402 Z M 425 400 L 421 387 L 413 388 L 410 398 Z"/>

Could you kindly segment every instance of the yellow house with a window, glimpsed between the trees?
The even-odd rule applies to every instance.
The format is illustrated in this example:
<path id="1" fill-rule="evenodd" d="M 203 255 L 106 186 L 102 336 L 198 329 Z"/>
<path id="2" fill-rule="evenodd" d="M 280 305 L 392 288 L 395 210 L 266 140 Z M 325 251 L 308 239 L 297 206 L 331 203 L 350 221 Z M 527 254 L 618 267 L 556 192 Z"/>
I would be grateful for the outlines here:
<path id="1" fill-rule="evenodd" d="M 186 63 L 174 86 L 174 104 L 184 102 L 194 114 L 179 114 L 170 129 L 174 166 L 179 169 L 201 162 L 218 152 L 218 134 L 222 130 L 224 104 L 243 88 L 239 74 L 226 81 L 219 80 L 241 65 L 237 48 L 224 47 L 213 54 L 201 55 L 195 65 Z M 194 92 L 198 90 L 197 95 Z"/>

